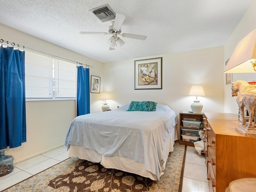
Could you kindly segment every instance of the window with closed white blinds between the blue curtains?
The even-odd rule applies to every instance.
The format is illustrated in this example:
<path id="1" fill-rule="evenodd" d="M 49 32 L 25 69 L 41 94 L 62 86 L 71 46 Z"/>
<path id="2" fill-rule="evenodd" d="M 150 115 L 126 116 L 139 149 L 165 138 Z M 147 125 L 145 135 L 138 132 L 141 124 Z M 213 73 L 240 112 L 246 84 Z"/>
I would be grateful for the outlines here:
<path id="1" fill-rule="evenodd" d="M 27 99 L 76 97 L 76 65 L 26 51 Z"/>

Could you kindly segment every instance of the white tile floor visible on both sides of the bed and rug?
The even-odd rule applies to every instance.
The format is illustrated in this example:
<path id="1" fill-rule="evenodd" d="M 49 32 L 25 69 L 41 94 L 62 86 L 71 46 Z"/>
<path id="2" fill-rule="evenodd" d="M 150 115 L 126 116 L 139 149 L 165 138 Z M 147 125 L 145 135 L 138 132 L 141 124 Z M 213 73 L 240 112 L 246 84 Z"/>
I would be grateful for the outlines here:
<path id="1" fill-rule="evenodd" d="M 0 177 L 0 191 L 37 174 L 68 158 L 66 146 L 62 146 L 14 164 L 14 170 Z M 204 156 L 194 147 L 187 146 L 182 192 L 209 192 Z"/>

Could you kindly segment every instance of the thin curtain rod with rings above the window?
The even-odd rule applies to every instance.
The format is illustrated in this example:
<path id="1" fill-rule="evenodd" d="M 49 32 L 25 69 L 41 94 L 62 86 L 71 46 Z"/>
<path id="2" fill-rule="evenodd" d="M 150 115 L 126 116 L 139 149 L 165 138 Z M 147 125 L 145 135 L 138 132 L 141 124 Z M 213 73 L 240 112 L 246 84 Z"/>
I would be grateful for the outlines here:
<path id="1" fill-rule="evenodd" d="M 41 51 L 38 51 L 38 50 L 34 50 L 34 49 L 31 49 L 31 48 L 25 47 L 25 46 L 20 46 L 20 44 L 15 44 L 14 42 L 4 41 L 3 39 L 0 39 L 0 43 L 4 44 L 6 46 L 13 46 L 13 47 L 16 46 L 18 49 L 20 49 L 20 48 L 22 48 L 23 50 L 26 49 L 28 51 L 36 52 L 36 53 L 41 54 L 41 55 L 50 56 L 52 58 L 57 58 L 59 60 L 72 62 L 73 64 L 76 64 L 76 65 L 84 65 L 86 68 L 92 67 L 92 65 L 82 64 L 82 63 L 79 63 L 79 62 L 75 62 L 75 61 L 72 61 L 72 60 L 68 60 L 68 59 L 65 59 L 65 58 L 54 56 L 54 55 L 51 55 L 51 54 L 48 54 L 48 53 L 44 53 L 44 52 L 41 52 Z"/>

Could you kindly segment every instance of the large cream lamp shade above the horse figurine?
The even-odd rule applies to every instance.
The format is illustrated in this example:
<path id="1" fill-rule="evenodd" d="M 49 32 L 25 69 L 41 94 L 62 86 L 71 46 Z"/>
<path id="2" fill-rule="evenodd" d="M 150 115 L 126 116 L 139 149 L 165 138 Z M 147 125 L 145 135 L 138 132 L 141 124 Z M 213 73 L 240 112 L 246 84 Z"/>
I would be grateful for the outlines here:
<path id="1" fill-rule="evenodd" d="M 252 61 L 256 60 L 256 29 L 236 46 L 223 73 L 252 73 Z"/>

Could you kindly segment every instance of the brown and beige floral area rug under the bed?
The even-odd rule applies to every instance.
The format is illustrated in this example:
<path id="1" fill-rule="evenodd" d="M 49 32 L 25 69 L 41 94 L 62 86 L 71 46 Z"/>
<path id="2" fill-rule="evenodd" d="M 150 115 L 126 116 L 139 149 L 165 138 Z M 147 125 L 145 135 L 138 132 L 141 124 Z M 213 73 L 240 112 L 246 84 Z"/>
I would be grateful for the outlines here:
<path id="1" fill-rule="evenodd" d="M 176 141 L 158 181 L 72 157 L 4 192 L 179 192 L 185 151 L 185 146 Z"/>

